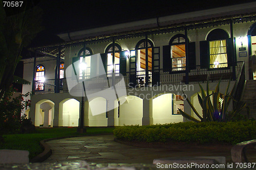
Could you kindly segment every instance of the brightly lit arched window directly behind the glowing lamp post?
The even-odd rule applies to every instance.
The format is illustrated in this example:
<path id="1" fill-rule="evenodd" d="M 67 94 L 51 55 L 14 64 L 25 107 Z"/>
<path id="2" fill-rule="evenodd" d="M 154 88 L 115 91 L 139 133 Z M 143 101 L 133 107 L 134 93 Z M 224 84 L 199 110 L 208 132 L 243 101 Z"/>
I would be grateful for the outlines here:
<path id="1" fill-rule="evenodd" d="M 86 55 L 83 56 L 83 48 L 78 52 L 78 57 L 80 57 L 80 63 L 86 63 L 86 69 L 84 70 L 84 78 L 89 79 L 91 75 L 91 55 L 93 54 L 90 48 L 86 47 Z M 84 57 L 84 58 L 83 58 Z M 79 71 L 79 79 L 82 79 L 82 70 Z"/>

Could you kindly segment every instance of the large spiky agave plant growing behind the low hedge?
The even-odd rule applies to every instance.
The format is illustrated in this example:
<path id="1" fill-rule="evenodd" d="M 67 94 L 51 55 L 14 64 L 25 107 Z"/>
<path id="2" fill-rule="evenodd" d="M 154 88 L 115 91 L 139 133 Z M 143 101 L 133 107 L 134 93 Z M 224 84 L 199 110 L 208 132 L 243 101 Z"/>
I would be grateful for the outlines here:
<path id="1" fill-rule="evenodd" d="M 220 82 L 221 82 L 221 79 L 219 80 L 215 88 L 215 91 L 212 92 L 211 94 L 209 93 L 209 80 L 207 80 L 207 84 L 206 84 L 206 93 L 203 87 L 201 86 L 201 84 L 199 83 L 201 96 L 199 95 L 199 93 L 197 93 L 197 96 L 198 96 L 198 101 L 200 103 L 200 106 L 202 107 L 203 116 L 200 116 L 200 114 L 197 112 L 196 108 L 193 106 L 193 104 L 191 104 L 188 98 L 186 98 L 186 101 L 188 102 L 189 106 L 192 108 L 192 110 L 198 116 L 199 119 L 193 116 L 190 116 L 184 111 L 179 109 L 182 116 L 194 122 L 213 122 L 213 121 L 228 122 L 234 117 L 234 115 L 240 113 L 243 110 L 243 108 L 246 107 L 246 103 L 241 101 L 240 99 L 235 100 L 233 98 L 233 94 L 235 91 L 234 89 L 237 85 L 237 81 L 229 93 L 228 92 L 229 85 L 230 85 L 230 80 L 229 80 L 225 94 L 222 94 L 219 92 Z M 219 108 L 218 107 L 220 104 L 219 99 L 221 96 L 223 96 L 223 102 L 221 103 L 221 107 Z M 212 102 L 210 100 L 210 97 L 212 97 Z M 228 111 L 228 107 L 231 101 L 233 101 L 235 105 L 233 105 L 231 111 Z"/>

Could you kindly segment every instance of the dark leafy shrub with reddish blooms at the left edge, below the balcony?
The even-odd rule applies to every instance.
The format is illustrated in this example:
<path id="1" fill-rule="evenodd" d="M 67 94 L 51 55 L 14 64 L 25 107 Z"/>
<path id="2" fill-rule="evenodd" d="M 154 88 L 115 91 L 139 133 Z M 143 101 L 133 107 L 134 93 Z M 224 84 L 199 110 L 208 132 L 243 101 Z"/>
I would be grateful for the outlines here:
<path id="1" fill-rule="evenodd" d="M 24 101 L 24 97 L 31 95 L 31 92 L 19 94 L 13 98 L 17 89 L 10 86 L 0 100 L 0 135 L 8 133 L 19 133 L 20 112 L 30 107 L 30 100 Z"/>

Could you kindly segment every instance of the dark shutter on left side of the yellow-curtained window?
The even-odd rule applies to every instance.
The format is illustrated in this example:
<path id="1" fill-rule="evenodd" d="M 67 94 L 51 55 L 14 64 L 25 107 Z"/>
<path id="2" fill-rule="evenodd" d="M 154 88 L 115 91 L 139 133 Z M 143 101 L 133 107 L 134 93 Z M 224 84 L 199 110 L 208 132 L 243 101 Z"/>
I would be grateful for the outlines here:
<path id="1" fill-rule="evenodd" d="M 200 41 L 200 67 L 209 68 L 209 41 Z"/>

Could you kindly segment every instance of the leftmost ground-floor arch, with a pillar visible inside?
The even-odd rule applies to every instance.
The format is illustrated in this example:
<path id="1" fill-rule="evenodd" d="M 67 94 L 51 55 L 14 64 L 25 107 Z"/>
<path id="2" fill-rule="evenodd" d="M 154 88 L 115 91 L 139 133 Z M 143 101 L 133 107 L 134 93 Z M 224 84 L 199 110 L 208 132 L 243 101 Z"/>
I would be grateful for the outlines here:
<path id="1" fill-rule="evenodd" d="M 35 126 L 53 127 L 54 103 L 48 99 L 40 100 L 35 106 Z"/>

